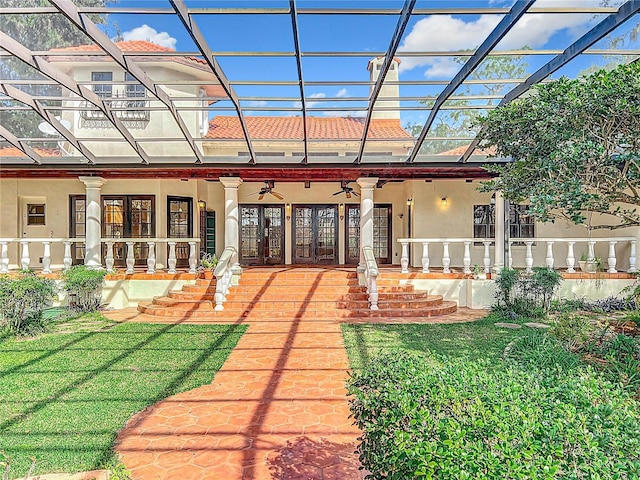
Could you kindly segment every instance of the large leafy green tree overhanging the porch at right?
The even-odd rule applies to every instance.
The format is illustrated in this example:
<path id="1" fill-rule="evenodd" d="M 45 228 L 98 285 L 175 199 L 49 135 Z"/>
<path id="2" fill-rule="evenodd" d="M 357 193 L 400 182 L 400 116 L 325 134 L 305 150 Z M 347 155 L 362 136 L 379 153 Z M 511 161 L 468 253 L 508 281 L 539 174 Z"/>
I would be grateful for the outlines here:
<path id="1" fill-rule="evenodd" d="M 479 120 L 482 147 L 511 158 L 482 191 L 530 202 L 541 221 L 640 225 L 640 62 L 537 85 Z M 609 219 L 592 226 L 590 213 Z"/>

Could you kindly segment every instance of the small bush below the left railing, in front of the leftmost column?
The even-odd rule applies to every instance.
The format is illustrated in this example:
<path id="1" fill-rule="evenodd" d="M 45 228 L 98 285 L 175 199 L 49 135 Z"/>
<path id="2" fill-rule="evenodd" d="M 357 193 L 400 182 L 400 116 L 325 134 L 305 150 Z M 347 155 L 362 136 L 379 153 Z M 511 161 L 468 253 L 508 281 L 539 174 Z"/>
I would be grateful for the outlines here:
<path id="1" fill-rule="evenodd" d="M 69 295 L 69 307 L 79 312 L 92 312 L 102 303 L 104 270 L 74 265 L 62 273 L 63 288 Z"/>

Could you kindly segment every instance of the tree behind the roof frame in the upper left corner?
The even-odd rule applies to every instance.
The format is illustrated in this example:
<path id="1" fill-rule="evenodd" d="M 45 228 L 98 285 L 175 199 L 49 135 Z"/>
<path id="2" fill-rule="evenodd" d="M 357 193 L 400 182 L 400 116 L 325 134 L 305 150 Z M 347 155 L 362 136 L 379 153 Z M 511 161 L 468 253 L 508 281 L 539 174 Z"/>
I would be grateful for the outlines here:
<path id="1" fill-rule="evenodd" d="M 108 0 L 75 0 L 80 7 L 103 7 Z M 3 7 L 50 7 L 47 0 L 4 0 Z M 106 15 L 89 15 L 95 23 L 105 24 Z M 51 48 L 61 48 L 70 45 L 92 43 L 87 36 L 75 27 L 62 14 L 8 14 L 3 15 L 0 22 L 2 31 L 11 38 L 18 40 L 25 47 L 33 51 L 46 51 Z M 117 30 L 117 27 L 115 27 Z M 0 77 L 8 80 L 35 80 L 42 76 L 32 67 L 22 63 L 17 58 L 4 57 L 0 61 Z M 20 89 L 31 95 L 60 96 L 61 88 L 53 85 L 21 85 Z M 6 100 L 6 106 L 24 107 L 20 102 Z M 49 106 L 60 105 L 60 101 L 48 100 Z M 42 122 L 30 110 L 16 109 L 2 112 L 2 124 L 7 125 L 11 132 L 18 137 L 41 137 L 38 124 Z M 55 145 L 55 142 L 53 142 Z"/>

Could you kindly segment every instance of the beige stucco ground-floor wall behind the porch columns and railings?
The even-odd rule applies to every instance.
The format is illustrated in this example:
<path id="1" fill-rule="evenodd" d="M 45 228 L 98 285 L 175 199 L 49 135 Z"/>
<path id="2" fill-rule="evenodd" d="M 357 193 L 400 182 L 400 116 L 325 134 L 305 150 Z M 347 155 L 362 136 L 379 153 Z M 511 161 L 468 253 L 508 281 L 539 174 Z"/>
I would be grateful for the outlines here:
<path id="1" fill-rule="evenodd" d="M 278 182 L 275 179 L 275 190 L 284 195 L 284 200 L 267 195 L 258 202 L 258 192 L 264 184 L 262 182 L 244 182 L 238 189 L 240 204 L 340 204 L 359 203 L 358 197 L 347 199 L 344 195 L 333 196 L 340 189 L 339 182 L 320 182 L 311 179 L 310 188 L 304 188 L 303 182 Z M 359 189 L 356 182 L 350 186 Z M 464 180 L 440 180 L 430 183 L 424 181 L 405 181 L 386 183 L 382 188 L 374 190 L 375 203 L 392 205 L 392 259 L 394 264 L 400 263 L 401 246 L 396 241 L 408 235 L 409 212 L 407 199 L 413 199 L 411 215 L 411 234 L 414 238 L 442 238 L 442 237 L 472 237 L 473 236 L 473 205 L 489 203 L 489 194 L 477 192 L 478 182 L 466 183 Z M 69 195 L 83 195 L 85 187 L 77 179 L 0 179 L 0 238 L 29 237 L 67 237 L 69 234 Z M 199 236 L 198 200 L 206 202 L 206 208 L 216 212 L 216 234 L 218 254 L 224 249 L 224 188 L 217 180 L 205 181 L 196 179 L 111 179 L 102 187 L 102 195 L 154 195 L 156 202 L 156 236 L 166 236 L 166 206 L 168 196 L 184 196 L 193 199 L 194 229 L 193 235 Z M 441 199 L 447 198 L 447 205 L 443 206 Z M 46 225 L 40 227 L 26 227 L 24 205 L 33 199 L 35 202 L 46 204 Z M 23 234 L 23 232 L 26 232 Z M 338 238 L 341 257 L 344 261 L 344 222 L 340 222 Z M 537 237 L 586 237 L 584 227 L 570 225 L 565 221 L 554 224 L 536 224 Z M 640 228 L 621 229 L 616 231 L 598 230 L 593 237 L 602 236 L 635 236 L 640 240 Z M 285 228 L 285 251 L 290 261 L 291 255 L 291 222 Z M 542 242 L 541 242 L 542 243 Z M 582 251 L 586 252 L 586 244 L 576 244 L 576 260 Z M 493 262 L 493 248 L 492 262 Z M 522 246 L 515 246 L 513 258 L 515 266 L 524 265 L 524 250 Z M 462 266 L 463 246 L 451 246 L 452 267 Z M 546 257 L 546 245 L 538 244 L 533 247 L 535 264 L 543 264 Z M 62 246 L 54 245 L 52 251 L 54 266 L 60 264 Z M 482 264 L 484 248 L 472 247 L 472 265 Z M 596 254 L 603 259 L 608 256 L 608 245 L 597 246 Z M 624 242 L 616 246 L 618 258 L 617 268 L 628 268 L 629 243 Z M 32 258 L 42 255 L 42 246 L 33 245 Z M 566 245 L 554 246 L 556 266 L 565 266 Z M 420 266 L 422 256 L 421 245 L 413 247 L 412 265 Z M 17 246 L 11 245 L 10 257 L 12 264 L 17 263 Z M 442 246 L 430 246 L 431 265 L 442 264 Z M 56 260 L 58 259 L 58 260 Z M 158 262 L 166 264 L 166 252 L 159 249 Z"/>

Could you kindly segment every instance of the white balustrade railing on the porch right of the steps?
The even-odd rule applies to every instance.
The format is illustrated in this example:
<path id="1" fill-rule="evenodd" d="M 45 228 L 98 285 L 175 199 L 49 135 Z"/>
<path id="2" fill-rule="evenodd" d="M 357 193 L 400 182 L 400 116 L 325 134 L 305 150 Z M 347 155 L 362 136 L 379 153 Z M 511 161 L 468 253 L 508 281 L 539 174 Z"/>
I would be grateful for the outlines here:
<path id="1" fill-rule="evenodd" d="M 462 265 L 463 273 L 471 273 L 471 246 L 474 244 L 482 244 L 483 245 L 483 254 L 482 254 L 482 268 L 485 273 L 489 273 L 491 271 L 491 246 L 494 244 L 493 239 L 489 238 L 399 238 L 398 242 L 402 245 L 402 256 L 400 259 L 401 271 L 402 273 L 409 273 L 409 245 L 422 245 L 422 272 L 429 273 L 429 265 L 431 263 L 431 259 L 429 256 L 429 246 L 433 244 L 442 245 L 442 271 L 443 273 L 451 272 L 451 254 L 450 254 L 450 246 L 451 245 L 463 245 L 464 250 L 462 254 L 462 258 L 454 258 L 454 262 L 456 265 Z M 597 244 L 605 244 L 608 246 L 607 250 L 607 272 L 616 273 L 618 270 L 616 269 L 616 265 L 618 263 L 618 259 L 616 257 L 616 245 L 617 244 L 629 244 L 629 268 L 627 272 L 636 272 L 637 264 L 636 264 L 636 244 L 637 239 L 635 237 L 608 237 L 608 238 L 529 238 L 529 239 L 512 239 L 509 241 L 509 268 L 514 268 L 513 261 L 513 252 L 514 252 L 514 243 L 518 243 L 519 245 L 524 244 L 524 262 L 520 264 L 516 263 L 516 268 L 524 267 L 527 272 L 531 272 L 534 266 L 534 255 L 533 255 L 533 247 L 536 246 L 544 246 L 546 248 L 545 251 L 545 259 L 544 265 L 549 268 L 566 268 L 568 273 L 574 273 L 575 267 L 578 261 L 575 256 L 575 245 L 576 244 L 584 244 L 587 248 L 587 253 L 585 254 L 586 258 L 590 261 L 597 258 L 596 256 L 596 245 Z M 556 262 L 555 252 L 558 250 L 564 252 L 564 262 Z M 560 247 L 560 246 L 564 246 Z M 460 260 L 462 260 L 460 262 Z M 477 263 L 477 262 L 476 262 Z"/>

